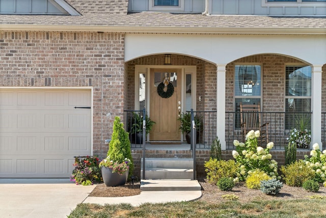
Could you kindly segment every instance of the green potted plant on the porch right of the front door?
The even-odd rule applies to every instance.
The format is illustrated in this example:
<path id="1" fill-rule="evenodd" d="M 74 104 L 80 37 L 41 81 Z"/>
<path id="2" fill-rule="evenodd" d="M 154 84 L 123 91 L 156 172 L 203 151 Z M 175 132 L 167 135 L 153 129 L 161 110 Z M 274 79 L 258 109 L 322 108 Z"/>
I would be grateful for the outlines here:
<path id="1" fill-rule="evenodd" d="M 178 120 L 180 121 L 180 128 L 179 130 L 181 130 L 182 134 L 185 133 L 185 138 L 188 144 L 191 143 L 191 128 L 192 128 L 192 117 L 191 117 L 191 113 L 183 113 L 180 115 L 180 117 L 178 118 Z M 201 117 L 200 116 L 194 116 L 194 120 L 195 120 L 195 125 L 196 125 L 196 134 L 197 134 L 197 143 L 200 141 L 199 140 L 199 132 L 201 130 Z"/>

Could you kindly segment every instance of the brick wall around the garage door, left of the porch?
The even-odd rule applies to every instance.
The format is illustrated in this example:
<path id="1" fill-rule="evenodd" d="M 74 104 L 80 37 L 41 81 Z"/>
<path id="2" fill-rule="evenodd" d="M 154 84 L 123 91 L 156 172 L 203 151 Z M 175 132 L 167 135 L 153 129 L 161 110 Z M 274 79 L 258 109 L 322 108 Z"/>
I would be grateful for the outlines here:
<path id="1" fill-rule="evenodd" d="M 0 32 L 0 86 L 93 87 L 94 155 L 123 114 L 124 35 Z"/>

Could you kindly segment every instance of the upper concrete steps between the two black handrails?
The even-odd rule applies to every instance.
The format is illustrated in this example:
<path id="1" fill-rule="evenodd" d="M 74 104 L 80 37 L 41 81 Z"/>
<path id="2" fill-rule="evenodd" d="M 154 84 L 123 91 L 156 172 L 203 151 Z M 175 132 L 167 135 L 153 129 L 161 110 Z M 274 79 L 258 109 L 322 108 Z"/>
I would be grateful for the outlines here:
<path id="1" fill-rule="evenodd" d="M 194 163 L 191 158 L 146 158 L 145 179 L 192 180 Z M 143 159 L 141 161 L 143 179 Z"/>

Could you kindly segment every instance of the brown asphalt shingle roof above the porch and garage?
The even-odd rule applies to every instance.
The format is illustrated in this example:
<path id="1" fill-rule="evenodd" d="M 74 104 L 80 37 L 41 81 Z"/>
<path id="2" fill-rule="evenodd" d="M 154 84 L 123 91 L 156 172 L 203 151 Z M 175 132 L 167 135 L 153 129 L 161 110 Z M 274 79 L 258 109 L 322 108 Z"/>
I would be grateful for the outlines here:
<path id="1" fill-rule="evenodd" d="M 326 29 L 326 17 L 271 17 L 243 15 L 172 14 L 141 12 L 127 14 L 128 0 L 66 0 L 82 16 L 0 15 L 0 25 L 45 25 L 84 27 L 123 27 L 124 29 Z M 1 28 L 0 26 L 0 28 Z M 1 30 L 1 29 L 0 29 Z M 325 32 L 325 31 L 324 31 Z"/>

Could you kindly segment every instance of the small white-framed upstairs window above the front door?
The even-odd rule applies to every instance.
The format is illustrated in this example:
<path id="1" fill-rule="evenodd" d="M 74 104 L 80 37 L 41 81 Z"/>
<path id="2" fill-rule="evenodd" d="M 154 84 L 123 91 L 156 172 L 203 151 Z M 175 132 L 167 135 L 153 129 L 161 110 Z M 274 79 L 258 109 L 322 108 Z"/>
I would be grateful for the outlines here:
<path id="1" fill-rule="evenodd" d="M 149 0 L 149 11 L 183 11 L 184 0 Z"/>

